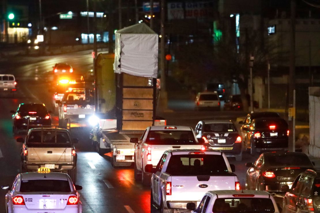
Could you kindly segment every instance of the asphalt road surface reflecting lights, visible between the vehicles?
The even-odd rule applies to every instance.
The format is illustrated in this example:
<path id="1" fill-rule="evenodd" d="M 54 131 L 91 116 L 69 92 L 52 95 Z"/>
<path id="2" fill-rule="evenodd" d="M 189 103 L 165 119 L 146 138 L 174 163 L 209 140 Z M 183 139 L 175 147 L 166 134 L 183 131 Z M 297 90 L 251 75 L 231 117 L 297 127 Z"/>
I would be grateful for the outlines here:
<path id="1" fill-rule="evenodd" d="M 40 102 L 48 110 L 52 107 L 50 78 L 52 66 L 58 62 L 68 62 L 74 72 L 86 72 L 92 68 L 90 51 L 70 53 L 68 55 L 47 57 L 16 57 L 0 62 L 0 73 L 10 73 L 18 80 L 18 92 L 14 97 L 0 98 L 0 185 L 11 184 L 20 168 L 21 143 L 15 141 L 12 134 L 12 114 L 19 103 Z M 242 112 L 213 112 L 192 110 L 192 102 L 171 101 L 175 111 L 161 114 L 168 125 L 188 125 L 193 128 L 201 119 L 236 119 Z M 57 117 L 52 115 L 57 121 Z M 107 156 L 94 152 L 88 139 L 89 128 L 72 128 L 72 136 L 79 138 L 76 144 L 78 153 L 77 184 L 83 186 L 80 191 L 83 212 L 150 212 L 150 188 L 144 187 L 133 178 L 133 167 L 113 168 Z M 230 164 L 236 165 L 236 174 L 241 183 L 245 181 L 247 168 L 244 162 L 254 162 L 257 156 L 245 153 L 242 162 L 230 158 Z M 4 196 L 0 191 L 0 212 L 4 212 Z"/>

